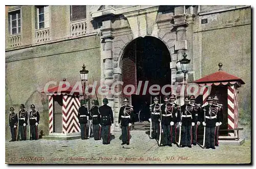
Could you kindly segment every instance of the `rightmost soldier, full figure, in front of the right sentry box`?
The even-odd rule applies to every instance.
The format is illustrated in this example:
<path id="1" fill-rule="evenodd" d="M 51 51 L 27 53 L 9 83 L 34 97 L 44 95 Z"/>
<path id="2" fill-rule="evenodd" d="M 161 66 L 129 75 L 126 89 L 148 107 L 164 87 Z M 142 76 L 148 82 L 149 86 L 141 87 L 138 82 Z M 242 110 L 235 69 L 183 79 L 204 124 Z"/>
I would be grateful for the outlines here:
<path id="1" fill-rule="evenodd" d="M 205 128 L 205 148 L 215 149 L 215 130 L 219 125 L 218 106 L 212 105 L 212 97 L 209 96 L 206 100 L 208 104 L 202 107 L 203 126 Z"/>

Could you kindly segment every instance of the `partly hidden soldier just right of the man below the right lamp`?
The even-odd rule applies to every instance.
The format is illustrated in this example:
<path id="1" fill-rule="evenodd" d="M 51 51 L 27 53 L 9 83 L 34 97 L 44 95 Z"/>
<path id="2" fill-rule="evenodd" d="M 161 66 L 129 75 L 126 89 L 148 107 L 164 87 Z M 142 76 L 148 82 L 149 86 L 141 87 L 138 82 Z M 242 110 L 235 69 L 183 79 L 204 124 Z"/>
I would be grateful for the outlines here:
<path id="1" fill-rule="evenodd" d="M 197 137 L 198 137 L 198 126 L 200 125 L 200 114 L 201 114 L 201 106 L 200 104 L 196 104 L 196 97 L 194 95 L 190 96 L 190 104 L 193 105 L 195 112 L 195 126 L 192 126 L 192 143 L 194 146 L 197 145 Z"/>

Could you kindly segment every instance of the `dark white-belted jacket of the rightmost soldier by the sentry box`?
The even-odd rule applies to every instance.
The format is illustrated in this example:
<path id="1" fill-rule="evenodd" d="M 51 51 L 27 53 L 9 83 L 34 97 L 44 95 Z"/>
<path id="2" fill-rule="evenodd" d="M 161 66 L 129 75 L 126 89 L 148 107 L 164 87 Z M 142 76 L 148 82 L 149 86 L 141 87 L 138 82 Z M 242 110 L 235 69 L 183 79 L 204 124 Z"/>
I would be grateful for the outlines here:
<path id="1" fill-rule="evenodd" d="M 220 116 L 218 114 L 218 108 L 219 106 L 212 104 L 206 105 L 202 107 L 202 113 L 201 115 L 203 116 L 203 122 L 206 123 L 206 127 L 215 127 L 216 122 L 220 121 Z M 204 114 L 205 113 L 205 114 Z"/>

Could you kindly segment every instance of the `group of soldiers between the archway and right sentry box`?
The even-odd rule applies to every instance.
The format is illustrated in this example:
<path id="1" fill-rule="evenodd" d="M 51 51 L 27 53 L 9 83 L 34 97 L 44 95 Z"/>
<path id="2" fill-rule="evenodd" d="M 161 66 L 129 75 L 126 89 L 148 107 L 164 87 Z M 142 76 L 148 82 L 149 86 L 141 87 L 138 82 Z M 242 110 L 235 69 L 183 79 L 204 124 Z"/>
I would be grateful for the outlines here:
<path id="1" fill-rule="evenodd" d="M 151 138 L 158 141 L 159 146 L 170 146 L 177 144 L 177 128 L 180 129 L 179 147 L 189 147 L 197 145 L 198 126 L 202 123 L 205 129 L 204 140 L 206 149 L 215 149 L 219 146 L 218 133 L 219 126 L 223 120 L 223 108 L 218 103 L 218 97 L 207 98 L 208 104 L 201 107 L 195 103 L 195 96 L 185 96 L 184 105 L 179 106 L 176 96 L 164 96 L 164 103 L 159 103 L 159 98 L 154 97 L 154 104 L 151 109 Z M 161 138 L 163 136 L 163 138 Z"/>

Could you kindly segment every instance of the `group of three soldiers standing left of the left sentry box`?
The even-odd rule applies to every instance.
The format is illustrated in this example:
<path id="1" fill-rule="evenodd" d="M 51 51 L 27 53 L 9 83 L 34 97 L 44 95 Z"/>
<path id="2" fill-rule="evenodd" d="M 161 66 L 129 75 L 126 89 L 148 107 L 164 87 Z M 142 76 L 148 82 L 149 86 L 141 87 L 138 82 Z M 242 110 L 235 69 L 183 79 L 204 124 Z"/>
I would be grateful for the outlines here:
<path id="1" fill-rule="evenodd" d="M 10 142 L 15 142 L 16 140 L 27 140 L 27 125 L 29 119 L 29 129 L 30 129 L 30 140 L 38 139 L 38 124 L 40 120 L 39 112 L 35 110 L 35 105 L 31 104 L 31 111 L 28 114 L 28 111 L 25 110 L 25 105 L 20 104 L 20 111 L 17 114 L 14 112 L 14 108 L 10 108 L 9 115 L 9 126 L 11 129 Z M 18 131 L 18 134 L 17 134 Z M 19 138 L 20 135 L 20 138 Z"/>

